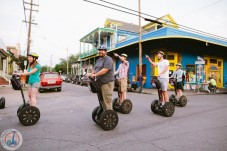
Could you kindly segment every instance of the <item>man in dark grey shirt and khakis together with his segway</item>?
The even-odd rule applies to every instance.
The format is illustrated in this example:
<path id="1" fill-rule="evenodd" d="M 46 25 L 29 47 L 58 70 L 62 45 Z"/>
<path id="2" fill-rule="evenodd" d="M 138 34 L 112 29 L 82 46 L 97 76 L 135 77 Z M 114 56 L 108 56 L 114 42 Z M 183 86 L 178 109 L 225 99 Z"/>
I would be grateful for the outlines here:
<path id="1" fill-rule="evenodd" d="M 104 130 L 113 130 L 118 124 L 117 112 L 112 108 L 114 88 L 113 60 L 107 55 L 105 46 L 100 46 L 98 50 L 100 58 L 96 61 L 94 73 L 91 74 L 90 86 L 97 93 L 99 106 L 94 108 L 92 119 Z"/>

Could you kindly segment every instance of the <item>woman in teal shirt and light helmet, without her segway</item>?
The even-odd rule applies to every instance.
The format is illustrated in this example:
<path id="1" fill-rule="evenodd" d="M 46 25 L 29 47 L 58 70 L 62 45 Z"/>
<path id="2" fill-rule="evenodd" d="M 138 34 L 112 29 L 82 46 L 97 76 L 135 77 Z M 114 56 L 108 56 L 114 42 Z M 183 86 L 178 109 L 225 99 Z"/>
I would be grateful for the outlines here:
<path id="1" fill-rule="evenodd" d="M 39 74 L 40 74 L 41 66 L 37 62 L 39 55 L 37 55 L 36 53 L 29 53 L 27 56 L 28 56 L 29 67 L 28 67 L 28 70 L 24 70 L 24 73 L 21 73 L 21 75 L 22 76 L 29 75 L 29 79 L 28 79 L 29 104 L 31 106 L 36 106 L 37 92 L 40 86 Z"/>

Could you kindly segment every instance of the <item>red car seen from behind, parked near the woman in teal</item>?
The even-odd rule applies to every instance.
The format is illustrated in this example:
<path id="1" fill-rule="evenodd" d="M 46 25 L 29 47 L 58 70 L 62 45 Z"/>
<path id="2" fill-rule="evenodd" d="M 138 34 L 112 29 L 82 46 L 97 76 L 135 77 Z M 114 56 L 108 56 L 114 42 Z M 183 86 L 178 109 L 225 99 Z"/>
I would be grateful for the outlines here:
<path id="1" fill-rule="evenodd" d="M 49 89 L 57 89 L 60 92 L 61 86 L 62 79 L 57 72 L 43 72 L 40 74 L 40 93 Z"/>

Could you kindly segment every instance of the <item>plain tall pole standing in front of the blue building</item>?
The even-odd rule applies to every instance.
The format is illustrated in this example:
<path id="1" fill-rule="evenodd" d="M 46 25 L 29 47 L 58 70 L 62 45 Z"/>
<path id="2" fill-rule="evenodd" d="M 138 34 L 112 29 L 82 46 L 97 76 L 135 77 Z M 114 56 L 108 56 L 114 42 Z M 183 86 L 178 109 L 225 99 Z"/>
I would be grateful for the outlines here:
<path id="1" fill-rule="evenodd" d="M 142 43 L 141 43 L 141 8 L 140 0 L 138 0 L 138 12 L 139 12 L 139 74 L 142 73 Z M 143 73 L 146 74 L 146 73 Z"/>

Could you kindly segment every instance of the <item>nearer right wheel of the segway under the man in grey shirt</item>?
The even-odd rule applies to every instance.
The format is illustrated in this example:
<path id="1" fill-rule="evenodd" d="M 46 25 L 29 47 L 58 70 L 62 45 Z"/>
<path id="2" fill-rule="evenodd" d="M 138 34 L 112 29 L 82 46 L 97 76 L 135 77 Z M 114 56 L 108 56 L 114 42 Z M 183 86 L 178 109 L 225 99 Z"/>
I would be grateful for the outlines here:
<path id="1" fill-rule="evenodd" d="M 118 124 L 117 112 L 113 110 L 107 110 L 100 116 L 100 126 L 102 129 L 109 131 L 113 130 Z"/>

